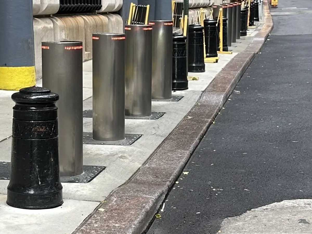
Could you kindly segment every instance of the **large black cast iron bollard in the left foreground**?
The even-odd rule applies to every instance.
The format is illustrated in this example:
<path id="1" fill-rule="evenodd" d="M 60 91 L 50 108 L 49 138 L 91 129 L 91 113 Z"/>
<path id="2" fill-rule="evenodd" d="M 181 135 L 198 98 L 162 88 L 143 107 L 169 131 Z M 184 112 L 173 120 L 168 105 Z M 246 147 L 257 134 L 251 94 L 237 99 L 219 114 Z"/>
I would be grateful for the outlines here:
<path id="1" fill-rule="evenodd" d="M 59 95 L 41 87 L 12 95 L 11 178 L 7 204 L 45 209 L 63 204 L 58 155 L 56 101 Z"/>

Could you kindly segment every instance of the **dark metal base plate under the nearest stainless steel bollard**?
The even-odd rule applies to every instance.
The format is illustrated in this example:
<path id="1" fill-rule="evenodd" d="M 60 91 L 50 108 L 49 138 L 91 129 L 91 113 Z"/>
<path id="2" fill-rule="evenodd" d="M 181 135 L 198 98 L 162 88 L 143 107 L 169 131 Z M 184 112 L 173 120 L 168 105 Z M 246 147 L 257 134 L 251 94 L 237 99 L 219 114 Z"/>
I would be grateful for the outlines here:
<path id="1" fill-rule="evenodd" d="M 61 183 L 89 183 L 105 170 L 103 166 L 83 166 L 83 174 L 78 176 L 61 177 Z M 10 180 L 11 163 L 0 162 L 0 180 Z"/>

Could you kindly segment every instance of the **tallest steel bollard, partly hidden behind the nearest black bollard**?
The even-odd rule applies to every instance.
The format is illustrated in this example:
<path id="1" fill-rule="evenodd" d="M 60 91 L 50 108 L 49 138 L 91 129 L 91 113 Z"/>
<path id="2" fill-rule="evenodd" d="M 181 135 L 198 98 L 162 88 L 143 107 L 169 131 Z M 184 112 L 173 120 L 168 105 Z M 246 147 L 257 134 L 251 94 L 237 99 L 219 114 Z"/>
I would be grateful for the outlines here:
<path id="1" fill-rule="evenodd" d="M 60 175 L 83 173 L 82 42 L 41 43 L 42 86 L 60 95 L 58 107 Z"/>

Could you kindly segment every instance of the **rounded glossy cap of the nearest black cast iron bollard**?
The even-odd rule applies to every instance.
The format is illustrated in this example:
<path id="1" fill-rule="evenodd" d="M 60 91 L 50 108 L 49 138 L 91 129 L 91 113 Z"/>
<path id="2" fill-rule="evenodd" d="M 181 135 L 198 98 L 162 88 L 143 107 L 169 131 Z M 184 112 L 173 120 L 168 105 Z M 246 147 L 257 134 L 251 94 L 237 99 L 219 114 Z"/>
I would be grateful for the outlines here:
<path id="1" fill-rule="evenodd" d="M 13 93 L 11 98 L 16 103 L 44 104 L 56 102 L 60 97 L 50 89 L 32 86 Z"/>

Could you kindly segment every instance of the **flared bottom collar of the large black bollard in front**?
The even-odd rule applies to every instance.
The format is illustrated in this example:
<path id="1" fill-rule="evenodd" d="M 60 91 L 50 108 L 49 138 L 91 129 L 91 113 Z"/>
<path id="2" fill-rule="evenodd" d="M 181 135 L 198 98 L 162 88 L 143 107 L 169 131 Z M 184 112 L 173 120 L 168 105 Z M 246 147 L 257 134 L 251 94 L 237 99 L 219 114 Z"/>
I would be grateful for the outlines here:
<path id="1" fill-rule="evenodd" d="M 7 190 L 7 204 L 21 209 L 47 209 L 63 204 L 63 193 L 57 191 L 46 194 L 15 193 Z"/>

